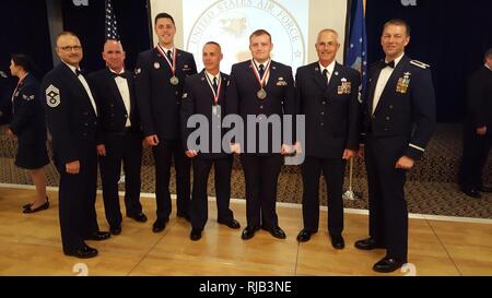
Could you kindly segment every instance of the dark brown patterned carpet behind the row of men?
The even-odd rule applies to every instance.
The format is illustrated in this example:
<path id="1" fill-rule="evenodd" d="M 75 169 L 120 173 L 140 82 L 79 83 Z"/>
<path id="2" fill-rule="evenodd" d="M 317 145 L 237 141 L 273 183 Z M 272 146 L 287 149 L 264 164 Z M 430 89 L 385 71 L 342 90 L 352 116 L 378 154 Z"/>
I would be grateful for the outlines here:
<path id="1" fill-rule="evenodd" d="M 28 174 L 13 165 L 15 141 L 0 136 L 0 182 L 31 184 Z M 425 157 L 417 164 L 408 175 L 406 188 L 407 201 L 411 213 L 492 218 L 492 193 L 482 199 L 471 199 L 459 192 L 456 177 L 461 153 L 461 126 L 440 124 L 433 140 L 427 146 Z M 144 152 L 142 163 L 142 192 L 154 191 L 154 168 L 150 151 Z M 49 186 L 58 186 L 58 174 L 52 164 L 46 167 Z M 348 176 L 347 170 L 347 176 Z M 171 188 L 175 191 L 174 170 L 172 171 Z M 344 201 L 350 208 L 367 208 L 367 184 L 363 162 L 354 163 L 353 190 L 362 194 L 360 200 Z M 345 187 L 348 179 L 345 179 Z M 485 182 L 492 184 L 492 158 L 485 169 Z M 101 188 L 101 182 L 99 186 Z M 278 201 L 301 203 L 302 180 L 297 166 L 282 168 L 278 186 Z M 121 189 L 122 190 L 122 189 Z M 214 195 L 213 175 L 209 180 L 209 193 Z M 326 189 L 324 183 L 319 188 L 320 201 L 326 205 Z M 244 176 L 238 158 L 234 160 L 232 175 L 232 196 L 244 198 Z"/>

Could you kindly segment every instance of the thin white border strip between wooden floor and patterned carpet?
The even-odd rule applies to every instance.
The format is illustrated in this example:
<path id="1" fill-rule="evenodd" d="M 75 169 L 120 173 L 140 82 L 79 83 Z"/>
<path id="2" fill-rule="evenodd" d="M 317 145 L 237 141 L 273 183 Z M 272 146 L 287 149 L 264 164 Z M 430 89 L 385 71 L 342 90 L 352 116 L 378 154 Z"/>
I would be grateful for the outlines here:
<path id="1" fill-rule="evenodd" d="M 11 189 L 28 189 L 34 190 L 34 186 L 27 186 L 27 184 L 11 184 L 11 183 L 0 183 L 0 188 L 11 188 Z M 47 187 L 48 191 L 58 191 L 57 187 Z M 97 190 L 98 194 L 102 194 L 102 190 Z M 125 195 L 125 191 L 119 191 L 119 195 Z M 149 192 L 141 192 L 141 198 L 155 198 L 155 193 L 149 193 Z M 176 194 L 171 194 L 172 199 L 176 199 Z M 215 196 L 209 196 L 209 201 L 215 201 Z M 246 204 L 246 200 L 244 199 L 231 199 L 231 202 L 239 203 L 239 204 Z M 290 207 L 290 208 L 302 208 L 302 204 L 298 203 L 284 203 L 284 202 L 278 202 L 277 205 L 282 207 Z M 319 210 L 321 211 L 328 211 L 327 206 L 319 206 Z M 367 210 L 361 210 L 361 208 L 344 208 L 344 213 L 347 214 L 360 214 L 360 215 L 368 215 Z M 432 214 L 418 214 L 418 213 L 410 213 L 409 218 L 412 219 L 427 219 L 427 220 L 438 220 L 438 222 L 456 222 L 456 223 L 470 223 L 470 224 L 488 224 L 492 225 L 492 219 L 489 218 L 476 218 L 476 217 L 458 217 L 458 216 L 444 216 L 444 215 L 432 215 Z"/>

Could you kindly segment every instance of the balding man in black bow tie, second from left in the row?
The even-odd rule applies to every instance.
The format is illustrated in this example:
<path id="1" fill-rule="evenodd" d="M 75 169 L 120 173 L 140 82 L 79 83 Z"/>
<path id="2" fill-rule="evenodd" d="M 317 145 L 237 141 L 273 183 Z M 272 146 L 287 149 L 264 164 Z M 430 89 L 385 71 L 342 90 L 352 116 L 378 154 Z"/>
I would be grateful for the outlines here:
<path id="1" fill-rule="evenodd" d="M 106 68 L 89 76 L 98 108 L 97 154 L 104 211 L 113 235 L 121 233 L 122 216 L 118 195 L 121 163 L 126 178 L 126 215 L 139 223 L 147 222 L 140 204 L 143 136 L 134 96 L 133 72 L 125 70 L 125 55 L 119 40 L 106 40 L 103 50 Z"/>

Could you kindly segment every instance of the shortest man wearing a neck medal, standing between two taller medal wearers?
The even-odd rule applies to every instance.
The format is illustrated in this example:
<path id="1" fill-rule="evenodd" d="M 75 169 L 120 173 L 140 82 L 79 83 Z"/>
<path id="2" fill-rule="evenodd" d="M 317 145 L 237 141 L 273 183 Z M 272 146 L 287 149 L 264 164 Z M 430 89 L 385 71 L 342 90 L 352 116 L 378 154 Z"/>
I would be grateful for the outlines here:
<path id="1" fill-rule="evenodd" d="M 194 158 L 194 188 L 191 195 L 191 240 L 199 240 L 208 219 L 208 195 L 207 187 L 212 165 L 215 172 L 215 196 L 218 208 L 218 222 L 230 228 L 239 228 L 239 223 L 234 219 L 234 214 L 230 210 L 231 200 L 231 172 L 233 156 L 222 150 L 221 121 L 224 115 L 227 99 L 225 90 L 229 85 L 229 75 L 220 71 L 222 60 L 221 46 L 210 41 L 203 46 L 204 70 L 198 74 L 186 78 L 185 91 L 181 103 L 181 129 L 183 146 L 187 148 L 186 155 Z M 209 144 L 204 152 L 199 147 L 188 146 L 188 136 L 192 128 L 187 127 L 188 119 L 192 116 L 203 116 L 207 118 Z M 206 135 L 203 135 L 206 136 Z M 215 139 L 214 139 L 215 138 Z M 200 139 L 200 142 L 204 142 Z M 213 145 L 215 142 L 215 146 Z"/>

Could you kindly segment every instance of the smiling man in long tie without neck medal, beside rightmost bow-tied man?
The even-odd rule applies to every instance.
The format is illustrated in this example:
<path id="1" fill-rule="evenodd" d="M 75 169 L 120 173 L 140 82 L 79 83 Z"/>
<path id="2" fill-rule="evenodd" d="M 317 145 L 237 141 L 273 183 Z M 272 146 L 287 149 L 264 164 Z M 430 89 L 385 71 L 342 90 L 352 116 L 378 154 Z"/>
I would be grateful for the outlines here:
<path id="1" fill-rule="evenodd" d="M 359 148 L 361 80 L 358 71 L 337 63 L 339 48 L 337 32 L 323 29 L 316 43 L 319 60 L 300 68 L 295 76 L 298 114 L 306 119 L 306 159 L 302 166 L 304 228 L 297 240 L 308 241 L 318 231 L 323 171 L 331 245 L 343 249 L 343 177 L 345 160 Z"/>

